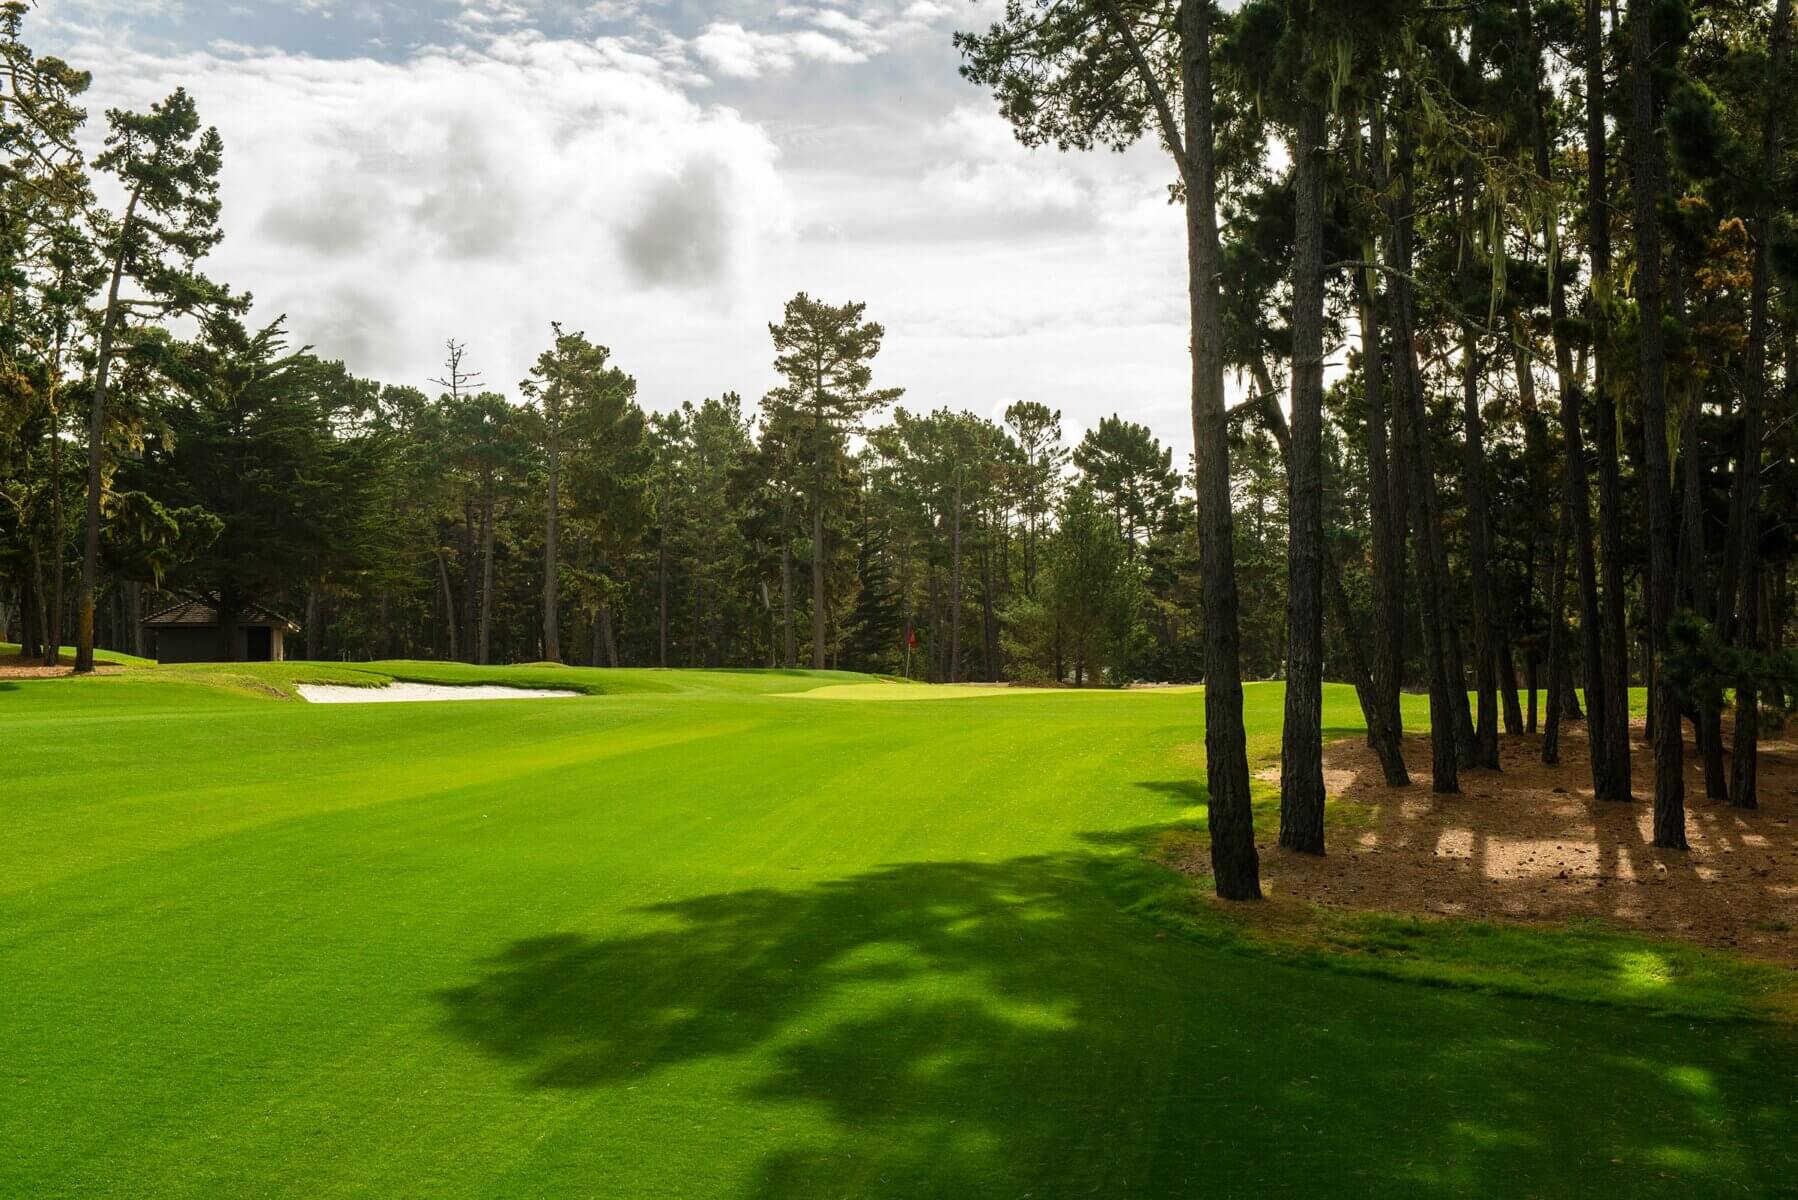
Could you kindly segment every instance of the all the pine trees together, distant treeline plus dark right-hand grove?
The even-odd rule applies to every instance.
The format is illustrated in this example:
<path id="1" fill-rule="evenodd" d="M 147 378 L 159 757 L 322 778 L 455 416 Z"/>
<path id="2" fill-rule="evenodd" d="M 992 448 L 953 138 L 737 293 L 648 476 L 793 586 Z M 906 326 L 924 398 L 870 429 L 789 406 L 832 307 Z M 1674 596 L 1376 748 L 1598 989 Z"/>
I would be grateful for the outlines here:
<path id="1" fill-rule="evenodd" d="M 1126 410 L 1068 446 L 1041 403 L 933 405 L 879 313 L 806 293 L 766 315 L 761 398 L 640 396 L 566 324 L 514 385 L 455 338 L 437 380 L 356 378 L 205 273 L 228 148 L 194 101 L 104 113 L 85 157 L 88 76 L 27 13 L 0 5 L 0 631 L 29 658 L 92 669 L 194 594 L 300 617 L 311 658 L 1203 682 L 1226 898 L 1260 892 L 1244 680 L 1286 680 L 1300 853 L 1325 680 L 1390 783 L 1456 792 L 1523 734 L 1555 761 L 1582 721 L 1656 846 L 1685 846 L 1687 730 L 1705 799 L 1757 802 L 1798 694 L 1791 0 L 1009 0 L 958 34 L 1025 144 L 1165 153 L 1190 459 Z"/>

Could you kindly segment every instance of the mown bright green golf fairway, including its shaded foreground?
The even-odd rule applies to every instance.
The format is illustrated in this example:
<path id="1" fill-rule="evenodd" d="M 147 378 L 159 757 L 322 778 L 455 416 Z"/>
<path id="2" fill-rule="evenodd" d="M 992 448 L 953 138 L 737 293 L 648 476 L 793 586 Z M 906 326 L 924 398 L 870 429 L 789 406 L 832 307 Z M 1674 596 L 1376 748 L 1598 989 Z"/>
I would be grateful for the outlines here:
<path id="1" fill-rule="evenodd" d="M 275 698 L 387 675 L 601 694 Z M 1762 975 L 1588 932 L 1242 948 L 1144 855 L 1203 815 L 1197 694 L 784 694 L 845 682 L 0 682 L 0 1195 L 1794 1187 L 1793 1029 L 1699 1016 Z M 1359 973 L 1487 966 L 1597 1002 Z"/>

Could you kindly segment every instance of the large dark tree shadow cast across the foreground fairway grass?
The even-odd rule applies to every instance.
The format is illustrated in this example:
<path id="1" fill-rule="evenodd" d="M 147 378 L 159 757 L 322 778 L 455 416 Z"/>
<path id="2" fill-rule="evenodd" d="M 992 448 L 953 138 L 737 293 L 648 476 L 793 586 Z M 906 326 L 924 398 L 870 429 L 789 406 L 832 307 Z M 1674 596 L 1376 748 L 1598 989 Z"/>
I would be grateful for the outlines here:
<path id="1" fill-rule="evenodd" d="M 1131 851 L 1093 851 L 699 896 L 640 910 L 649 928 L 620 937 L 520 939 L 441 1000 L 525 1088 L 622 1096 L 705 1063 L 739 1106 L 665 1137 L 782 1130 L 784 1106 L 827 1117 L 827 1135 L 795 1121 L 753 1142 L 757 1196 L 1699 1195 L 1793 1178 L 1784 1033 L 1160 939 L 1120 912 L 1160 880 Z"/>

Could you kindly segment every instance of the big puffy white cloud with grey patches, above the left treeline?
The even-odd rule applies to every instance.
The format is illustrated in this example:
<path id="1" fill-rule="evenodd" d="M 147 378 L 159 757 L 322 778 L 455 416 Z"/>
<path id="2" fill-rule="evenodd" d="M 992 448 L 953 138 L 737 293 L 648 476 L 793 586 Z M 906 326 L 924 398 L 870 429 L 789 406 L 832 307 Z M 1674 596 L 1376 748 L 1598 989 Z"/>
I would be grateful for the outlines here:
<path id="1" fill-rule="evenodd" d="M 512 36 L 401 63 L 124 54 L 95 112 L 176 85 L 225 137 L 209 270 L 252 290 L 257 317 L 288 313 L 297 338 L 392 381 L 419 383 L 457 336 L 511 389 L 552 318 L 654 342 L 696 320 L 696 297 L 732 309 L 788 237 L 768 135 L 610 45 Z"/>

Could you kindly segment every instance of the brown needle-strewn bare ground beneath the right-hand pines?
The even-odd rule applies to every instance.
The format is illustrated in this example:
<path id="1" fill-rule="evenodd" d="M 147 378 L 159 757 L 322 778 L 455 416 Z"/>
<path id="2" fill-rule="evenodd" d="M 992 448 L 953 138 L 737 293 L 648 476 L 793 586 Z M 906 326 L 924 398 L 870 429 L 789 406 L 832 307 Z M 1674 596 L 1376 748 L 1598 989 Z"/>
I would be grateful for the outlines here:
<path id="1" fill-rule="evenodd" d="M 1505 738 L 1503 770 L 1464 770 L 1431 795 L 1429 741 L 1408 738 L 1410 788 L 1388 788 L 1359 738 L 1323 750 L 1325 783 L 1363 810 L 1313 858 L 1262 846 L 1277 896 L 1322 905 L 1501 921 L 1602 918 L 1798 966 L 1798 743 L 1760 747 L 1760 808 L 1712 804 L 1687 743 L 1687 853 L 1649 846 L 1652 752 L 1636 727 L 1631 804 L 1591 792 L 1584 727 L 1562 727 L 1561 765 L 1537 736 Z M 1269 777 L 1269 775 L 1264 775 Z M 1278 779 L 1278 768 L 1271 772 Z"/>

